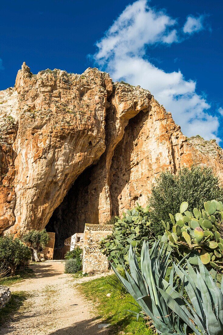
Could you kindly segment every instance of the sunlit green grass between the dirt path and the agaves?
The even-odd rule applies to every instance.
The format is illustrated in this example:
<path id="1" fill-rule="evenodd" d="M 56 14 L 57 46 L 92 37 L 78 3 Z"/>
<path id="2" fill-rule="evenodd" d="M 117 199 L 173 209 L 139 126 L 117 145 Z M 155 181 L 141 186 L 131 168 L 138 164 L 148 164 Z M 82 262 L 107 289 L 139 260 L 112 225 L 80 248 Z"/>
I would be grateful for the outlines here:
<path id="1" fill-rule="evenodd" d="M 133 335 L 153 335 L 153 332 L 145 325 L 143 319 L 137 322 L 135 316 L 127 310 L 137 311 L 135 300 L 131 295 L 126 295 L 123 299 L 117 299 L 115 294 L 110 291 L 110 284 L 107 282 L 108 277 L 102 277 L 81 283 L 78 289 L 84 293 L 86 298 L 95 303 L 99 317 L 102 317 L 103 323 L 110 323 L 111 334 L 133 334 Z M 106 297 L 107 293 L 111 296 Z"/>

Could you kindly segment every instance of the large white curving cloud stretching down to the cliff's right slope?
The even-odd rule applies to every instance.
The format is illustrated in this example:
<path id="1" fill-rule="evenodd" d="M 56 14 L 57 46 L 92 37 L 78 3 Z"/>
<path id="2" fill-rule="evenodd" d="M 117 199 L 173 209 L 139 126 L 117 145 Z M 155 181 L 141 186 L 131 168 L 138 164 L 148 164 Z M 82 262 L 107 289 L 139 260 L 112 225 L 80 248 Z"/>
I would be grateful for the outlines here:
<path id="1" fill-rule="evenodd" d="M 180 70 L 165 72 L 146 58 L 149 45 L 174 42 L 179 42 L 176 20 L 139 0 L 126 7 L 107 30 L 94 58 L 114 80 L 150 90 L 185 135 L 217 138 L 218 118 L 207 113 L 210 105 L 196 93 L 196 82 L 185 80 Z"/>

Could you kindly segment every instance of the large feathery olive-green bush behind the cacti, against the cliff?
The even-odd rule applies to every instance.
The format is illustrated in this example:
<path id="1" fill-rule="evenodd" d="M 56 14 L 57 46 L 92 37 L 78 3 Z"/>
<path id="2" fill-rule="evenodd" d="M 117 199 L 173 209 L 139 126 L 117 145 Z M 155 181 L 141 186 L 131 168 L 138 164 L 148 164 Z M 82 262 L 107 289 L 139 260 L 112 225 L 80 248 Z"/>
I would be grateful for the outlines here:
<path id="1" fill-rule="evenodd" d="M 192 166 L 191 170 L 186 167 L 179 169 L 177 175 L 168 171 L 161 173 L 149 197 L 150 217 L 156 236 L 164 233 L 161 220 L 167 222 L 169 213 L 177 213 L 181 202 L 187 201 L 189 211 L 193 211 L 194 207 L 201 209 L 209 199 L 223 200 L 223 189 L 211 169 Z"/>

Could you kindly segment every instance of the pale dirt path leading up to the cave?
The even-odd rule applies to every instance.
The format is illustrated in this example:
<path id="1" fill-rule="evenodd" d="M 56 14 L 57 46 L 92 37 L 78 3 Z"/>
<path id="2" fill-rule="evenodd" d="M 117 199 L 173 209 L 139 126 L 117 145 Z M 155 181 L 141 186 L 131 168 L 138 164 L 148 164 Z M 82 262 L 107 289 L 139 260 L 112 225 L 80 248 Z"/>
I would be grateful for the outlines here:
<path id="1" fill-rule="evenodd" d="M 32 266 L 35 277 L 12 285 L 11 291 L 31 293 L 0 335 L 95 335 L 107 334 L 99 329 L 93 305 L 85 300 L 75 284 L 96 278 L 74 281 L 64 273 L 63 262 L 45 262 Z"/>

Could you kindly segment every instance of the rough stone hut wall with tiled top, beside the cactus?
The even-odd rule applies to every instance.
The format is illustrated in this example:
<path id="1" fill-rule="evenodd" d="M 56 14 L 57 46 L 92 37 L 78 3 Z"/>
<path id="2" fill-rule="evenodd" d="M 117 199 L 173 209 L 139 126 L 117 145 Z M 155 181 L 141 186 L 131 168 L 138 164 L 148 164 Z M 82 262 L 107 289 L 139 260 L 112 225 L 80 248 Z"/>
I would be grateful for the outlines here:
<path id="1" fill-rule="evenodd" d="M 83 237 L 83 273 L 108 270 L 107 257 L 98 249 L 98 242 L 112 231 L 111 224 L 85 224 Z"/>

